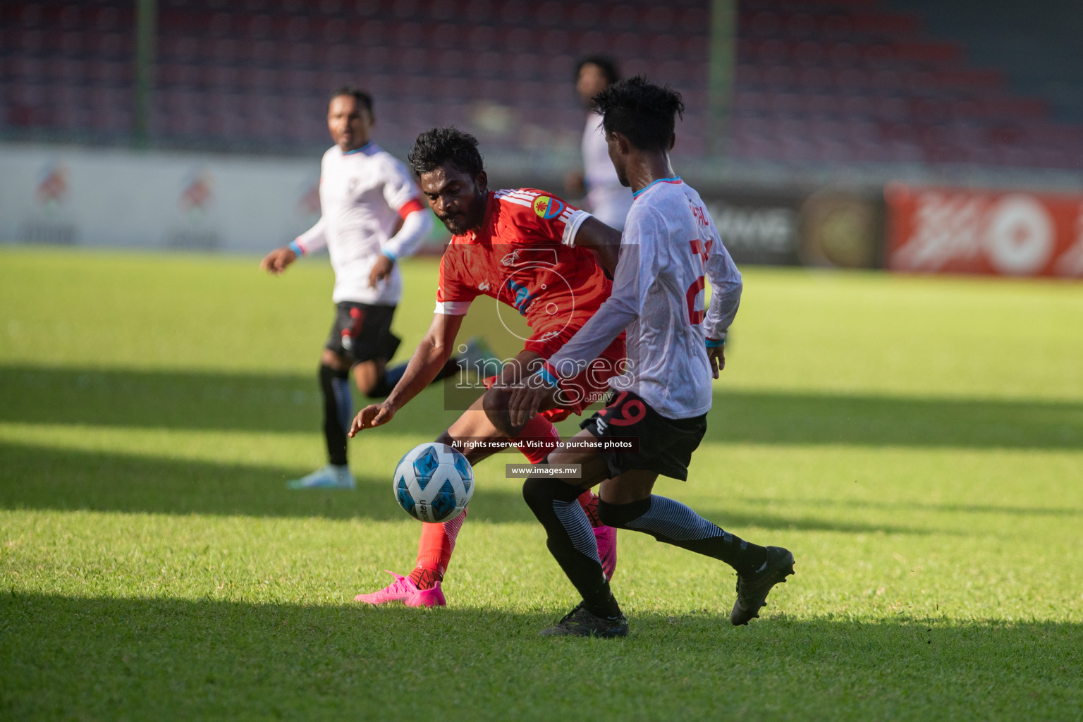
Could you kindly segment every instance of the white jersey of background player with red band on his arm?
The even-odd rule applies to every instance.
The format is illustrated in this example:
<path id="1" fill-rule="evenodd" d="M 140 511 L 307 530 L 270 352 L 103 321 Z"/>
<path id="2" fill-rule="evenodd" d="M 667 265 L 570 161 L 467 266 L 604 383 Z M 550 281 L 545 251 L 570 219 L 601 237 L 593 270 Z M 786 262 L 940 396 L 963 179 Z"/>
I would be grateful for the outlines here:
<path id="1" fill-rule="evenodd" d="M 327 248 L 335 268 L 336 303 L 399 303 L 403 281 L 397 263 L 376 288 L 369 287 L 368 277 L 381 253 L 397 260 L 425 239 L 432 221 L 419 198 L 406 167 L 375 143 L 347 153 L 334 146 L 324 154 L 319 221 L 296 242 L 304 253 Z M 408 216 L 416 218 L 407 223 Z"/>

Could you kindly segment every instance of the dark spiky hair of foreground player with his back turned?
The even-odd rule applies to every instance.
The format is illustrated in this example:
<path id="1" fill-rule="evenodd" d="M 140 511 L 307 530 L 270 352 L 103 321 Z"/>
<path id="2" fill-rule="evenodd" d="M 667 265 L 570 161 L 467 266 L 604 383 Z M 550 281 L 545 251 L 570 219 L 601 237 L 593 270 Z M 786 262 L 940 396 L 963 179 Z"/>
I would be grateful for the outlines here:
<path id="1" fill-rule="evenodd" d="M 640 150 L 668 150 L 677 116 L 684 117 L 680 93 L 642 76 L 614 83 L 595 96 L 606 133 L 624 134 Z"/>

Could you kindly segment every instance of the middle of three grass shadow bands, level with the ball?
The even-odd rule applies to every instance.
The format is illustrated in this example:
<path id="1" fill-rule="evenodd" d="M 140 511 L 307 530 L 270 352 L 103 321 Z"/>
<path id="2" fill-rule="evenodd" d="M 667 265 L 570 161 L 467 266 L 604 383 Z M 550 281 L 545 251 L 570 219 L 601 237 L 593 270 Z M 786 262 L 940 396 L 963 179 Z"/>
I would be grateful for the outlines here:
<path id="1" fill-rule="evenodd" d="M 501 457 L 486 463 L 504 463 Z M 319 516 L 405 521 L 390 484 L 361 476 L 357 488 L 291 491 L 287 478 L 298 470 L 247 464 L 161 459 L 101 451 L 42 449 L 0 443 L 0 509 L 52 509 L 158 514 L 218 514 L 245 516 Z M 758 526 L 843 533 L 929 534 L 899 525 L 819 520 L 814 515 L 786 517 L 771 513 L 700 511 L 732 528 Z M 472 520 L 534 522 L 518 491 L 480 489 L 470 504 Z M 952 531 L 945 530 L 947 534 Z"/>

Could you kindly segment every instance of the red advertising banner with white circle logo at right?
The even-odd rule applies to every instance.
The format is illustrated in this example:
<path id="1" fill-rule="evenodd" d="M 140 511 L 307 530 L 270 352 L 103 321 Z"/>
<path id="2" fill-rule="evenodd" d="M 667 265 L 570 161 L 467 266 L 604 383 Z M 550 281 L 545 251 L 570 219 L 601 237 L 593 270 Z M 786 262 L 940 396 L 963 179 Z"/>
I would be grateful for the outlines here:
<path id="1" fill-rule="evenodd" d="M 892 184 L 887 267 L 1083 278 L 1083 194 Z"/>

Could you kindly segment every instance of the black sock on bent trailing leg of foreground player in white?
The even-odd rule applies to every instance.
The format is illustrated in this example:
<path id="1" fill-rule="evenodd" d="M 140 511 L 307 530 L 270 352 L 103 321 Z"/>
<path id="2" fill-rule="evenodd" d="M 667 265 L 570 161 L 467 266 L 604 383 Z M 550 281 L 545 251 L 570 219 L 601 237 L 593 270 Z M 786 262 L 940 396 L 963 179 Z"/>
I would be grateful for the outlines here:
<path id="1" fill-rule="evenodd" d="M 751 574 L 767 561 L 767 549 L 723 531 L 679 501 L 650 496 L 627 504 L 598 502 L 602 523 L 650 534 L 658 541 L 726 562 Z"/>

